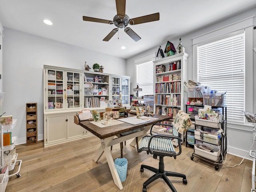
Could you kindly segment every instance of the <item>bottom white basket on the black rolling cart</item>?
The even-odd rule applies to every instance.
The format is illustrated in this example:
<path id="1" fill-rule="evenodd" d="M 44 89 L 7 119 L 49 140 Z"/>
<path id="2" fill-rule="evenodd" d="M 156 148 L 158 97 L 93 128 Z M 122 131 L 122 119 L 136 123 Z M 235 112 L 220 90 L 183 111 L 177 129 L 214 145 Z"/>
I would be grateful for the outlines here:
<path id="1" fill-rule="evenodd" d="M 194 144 L 195 154 L 200 155 L 204 158 L 218 162 L 220 160 L 220 150 L 217 147 L 214 147 L 213 152 L 208 152 L 206 150 L 200 149 L 199 146 L 203 145 L 202 143 Z M 206 144 L 204 144 L 206 145 Z"/>

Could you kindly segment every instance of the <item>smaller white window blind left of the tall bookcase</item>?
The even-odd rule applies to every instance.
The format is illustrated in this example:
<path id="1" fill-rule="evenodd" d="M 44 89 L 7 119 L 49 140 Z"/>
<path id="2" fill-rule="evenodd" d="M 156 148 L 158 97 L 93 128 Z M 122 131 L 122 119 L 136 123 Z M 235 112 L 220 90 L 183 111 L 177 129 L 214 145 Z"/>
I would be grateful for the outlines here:
<path id="1" fill-rule="evenodd" d="M 138 92 L 139 97 L 154 94 L 153 71 L 153 61 L 136 65 L 136 83 L 138 83 L 139 87 L 142 88 L 142 91 Z"/>

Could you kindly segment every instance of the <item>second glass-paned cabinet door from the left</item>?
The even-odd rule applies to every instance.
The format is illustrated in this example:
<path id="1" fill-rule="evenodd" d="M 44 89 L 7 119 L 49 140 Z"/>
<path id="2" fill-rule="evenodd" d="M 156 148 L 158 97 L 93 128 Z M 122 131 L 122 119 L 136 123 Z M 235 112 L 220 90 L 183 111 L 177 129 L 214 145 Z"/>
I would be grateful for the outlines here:
<path id="1" fill-rule="evenodd" d="M 80 73 L 66 72 L 67 74 L 67 108 L 80 107 Z"/>

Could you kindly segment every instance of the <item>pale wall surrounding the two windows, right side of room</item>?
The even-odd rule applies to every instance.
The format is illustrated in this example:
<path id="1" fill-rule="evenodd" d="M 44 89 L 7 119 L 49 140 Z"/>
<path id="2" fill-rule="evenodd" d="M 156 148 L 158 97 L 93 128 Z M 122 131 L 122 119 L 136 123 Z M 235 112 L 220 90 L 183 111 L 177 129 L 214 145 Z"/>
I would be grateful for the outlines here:
<path id="1" fill-rule="evenodd" d="M 216 30 L 218 28 L 227 26 L 229 24 L 232 24 L 234 22 L 238 22 L 240 20 L 243 20 L 245 18 L 248 18 L 250 16 L 254 16 L 256 13 L 256 7 L 242 12 L 240 14 L 237 14 L 235 16 L 232 16 L 226 20 L 222 20 L 218 23 L 209 25 L 208 27 L 202 28 L 200 30 L 191 32 L 190 34 L 183 34 L 181 36 L 178 36 L 176 38 L 172 38 L 172 39 L 166 39 L 166 41 L 164 42 L 159 42 L 159 46 L 162 47 L 162 49 L 164 50 L 167 41 L 169 40 L 170 42 L 172 42 L 175 46 L 175 48 L 178 46 L 178 42 L 179 42 L 179 38 L 182 38 L 182 44 L 185 46 L 186 48 L 186 53 L 189 54 L 189 58 L 188 58 L 188 79 L 192 79 L 192 71 L 193 71 L 193 64 L 192 64 L 192 38 L 205 34 L 207 32 L 211 32 L 212 30 Z M 200 22 L 200 21 L 198 21 Z M 256 26 L 256 18 L 253 18 L 253 24 L 254 26 Z M 184 24 L 186 25 L 186 24 Z M 160 29 L 160 30 L 164 30 L 164 29 Z M 256 47 L 256 30 L 253 31 L 253 47 Z M 127 70 L 127 75 L 131 76 L 131 83 L 134 85 L 136 84 L 135 81 L 135 73 L 134 73 L 134 59 L 136 58 L 140 58 L 144 55 L 150 54 L 152 52 L 157 52 L 158 51 L 158 47 L 154 48 L 154 49 L 150 49 L 146 52 L 140 53 L 132 58 L 129 58 L 127 60 L 127 65 L 126 65 L 126 70 Z M 253 65 L 254 65 L 254 74 L 256 74 L 255 70 L 256 70 L 256 53 L 253 53 L 254 55 L 254 60 L 253 60 Z M 253 104 L 254 106 L 254 114 L 256 113 L 256 102 L 254 102 L 254 100 L 256 100 L 256 79 L 254 78 L 254 82 L 253 82 L 253 89 L 254 89 L 254 96 L 253 96 L 253 100 L 250 101 L 251 104 Z M 230 125 L 228 124 L 228 139 L 229 139 L 229 148 L 228 148 L 228 152 L 231 154 L 235 154 L 237 156 L 241 156 L 244 157 L 246 155 L 246 153 L 248 152 L 250 146 L 252 146 L 252 126 L 254 124 L 251 124 L 251 126 L 244 126 L 244 125 Z M 255 148 L 255 145 L 253 146 L 253 148 Z M 250 158 L 247 154 L 246 158 Z"/>

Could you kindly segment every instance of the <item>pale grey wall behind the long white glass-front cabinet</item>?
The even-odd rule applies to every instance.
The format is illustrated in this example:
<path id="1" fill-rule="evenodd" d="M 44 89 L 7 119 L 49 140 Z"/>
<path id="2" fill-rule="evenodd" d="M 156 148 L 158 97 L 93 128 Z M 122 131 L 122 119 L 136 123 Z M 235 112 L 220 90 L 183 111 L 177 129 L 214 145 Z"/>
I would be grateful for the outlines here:
<path id="1" fill-rule="evenodd" d="M 126 60 L 78 46 L 4 28 L 3 92 L 5 115 L 18 119 L 12 130 L 16 144 L 26 143 L 26 103 L 38 104 L 38 139 L 43 139 L 43 66 L 84 70 L 98 63 L 105 73 L 126 75 Z M 91 69 L 92 70 L 92 69 Z"/>

